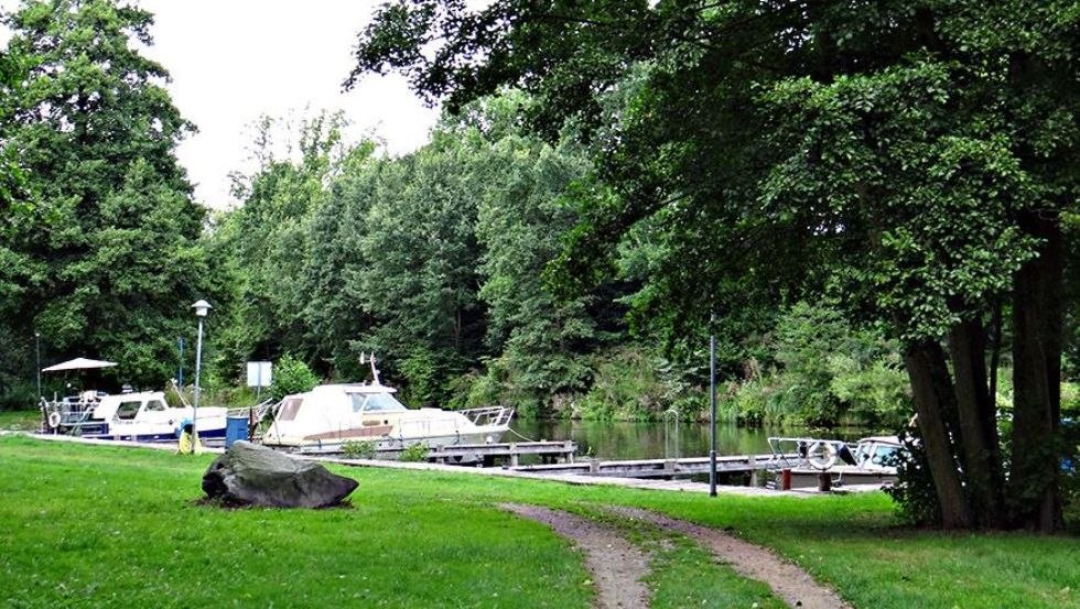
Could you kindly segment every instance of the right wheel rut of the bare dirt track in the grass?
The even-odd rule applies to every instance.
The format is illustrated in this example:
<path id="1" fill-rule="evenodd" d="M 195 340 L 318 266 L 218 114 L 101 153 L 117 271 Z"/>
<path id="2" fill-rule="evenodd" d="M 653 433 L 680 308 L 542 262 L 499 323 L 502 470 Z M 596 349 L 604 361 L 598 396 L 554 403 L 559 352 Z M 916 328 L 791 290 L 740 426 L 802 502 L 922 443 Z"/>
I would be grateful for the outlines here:
<path id="1" fill-rule="evenodd" d="M 716 529 L 676 520 L 646 510 L 613 508 L 613 513 L 641 520 L 695 540 L 739 575 L 764 581 L 791 607 L 804 609 L 851 609 L 836 592 L 817 583 L 801 567 L 781 559 L 769 550 L 744 542 Z"/>

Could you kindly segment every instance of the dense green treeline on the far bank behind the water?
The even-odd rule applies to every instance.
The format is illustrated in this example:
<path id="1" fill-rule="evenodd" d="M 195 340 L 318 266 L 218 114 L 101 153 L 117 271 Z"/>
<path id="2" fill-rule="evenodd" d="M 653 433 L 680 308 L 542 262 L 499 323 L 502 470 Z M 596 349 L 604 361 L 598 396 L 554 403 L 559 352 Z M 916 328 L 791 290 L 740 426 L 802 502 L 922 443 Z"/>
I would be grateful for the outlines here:
<path id="1" fill-rule="evenodd" d="M 235 384 L 246 360 L 283 355 L 323 378 L 357 379 L 358 356 L 376 352 L 418 405 L 702 416 L 706 337 L 665 349 L 660 324 L 625 320 L 649 290 L 659 255 L 650 235 L 627 244 L 602 291 L 557 297 L 544 281 L 580 219 L 566 199 L 595 177 L 572 139 L 546 144 L 517 122 L 528 104 L 519 93 L 479 100 L 402 157 L 345 146 L 343 118 L 326 116 L 284 134 L 299 142 L 294 160 L 257 150 L 262 166 L 237 181 L 244 204 L 207 238 L 229 273 L 215 314 L 225 316 L 213 339 L 217 383 Z M 273 130 L 266 119 L 256 141 L 280 140 Z M 733 324 L 722 342 L 725 416 L 882 428 L 907 420 L 897 346 L 881 333 L 854 330 L 824 306 L 756 314 L 760 327 Z"/>

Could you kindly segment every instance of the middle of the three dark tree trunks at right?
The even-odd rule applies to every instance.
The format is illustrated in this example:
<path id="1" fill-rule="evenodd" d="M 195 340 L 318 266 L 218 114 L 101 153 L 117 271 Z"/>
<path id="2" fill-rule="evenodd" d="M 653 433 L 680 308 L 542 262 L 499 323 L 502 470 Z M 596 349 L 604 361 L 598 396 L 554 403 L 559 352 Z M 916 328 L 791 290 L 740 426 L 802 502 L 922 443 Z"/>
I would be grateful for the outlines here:
<path id="1" fill-rule="evenodd" d="M 972 512 L 980 525 L 998 529 L 1005 523 L 1001 445 L 997 413 L 986 379 L 982 324 L 964 322 L 954 326 L 949 333 L 949 351 Z"/>

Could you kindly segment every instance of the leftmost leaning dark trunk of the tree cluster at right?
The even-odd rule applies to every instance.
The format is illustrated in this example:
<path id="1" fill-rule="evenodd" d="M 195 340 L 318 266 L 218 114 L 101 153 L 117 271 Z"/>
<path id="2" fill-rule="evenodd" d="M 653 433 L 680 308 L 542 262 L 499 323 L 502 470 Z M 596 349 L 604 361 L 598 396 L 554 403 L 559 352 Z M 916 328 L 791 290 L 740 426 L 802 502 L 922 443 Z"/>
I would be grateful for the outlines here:
<path id="1" fill-rule="evenodd" d="M 941 525 L 946 529 L 970 529 L 974 520 L 968 498 L 960 485 L 960 474 L 949 439 L 949 409 L 952 395 L 941 346 L 924 341 L 908 347 L 904 355 L 919 432 L 926 449 L 930 477 L 941 505 Z"/>

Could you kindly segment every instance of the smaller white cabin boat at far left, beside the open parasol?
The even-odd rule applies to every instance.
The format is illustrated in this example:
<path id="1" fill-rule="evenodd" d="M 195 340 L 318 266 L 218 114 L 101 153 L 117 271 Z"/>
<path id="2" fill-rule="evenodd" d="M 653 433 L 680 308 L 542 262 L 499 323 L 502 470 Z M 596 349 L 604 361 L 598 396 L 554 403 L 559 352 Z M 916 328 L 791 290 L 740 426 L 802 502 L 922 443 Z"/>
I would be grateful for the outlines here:
<path id="1" fill-rule="evenodd" d="M 44 403 L 42 414 L 46 432 L 140 442 L 176 439 L 181 425 L 194 417 L 191 407 L 170 407 L 161 391 L 84 392 L 75 400 Z M 199 437 L 225 437 L 225 426 L 226 409 L 198 409 L 195 429 Z"/>

